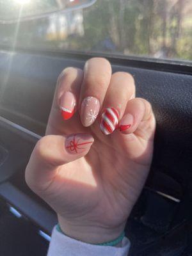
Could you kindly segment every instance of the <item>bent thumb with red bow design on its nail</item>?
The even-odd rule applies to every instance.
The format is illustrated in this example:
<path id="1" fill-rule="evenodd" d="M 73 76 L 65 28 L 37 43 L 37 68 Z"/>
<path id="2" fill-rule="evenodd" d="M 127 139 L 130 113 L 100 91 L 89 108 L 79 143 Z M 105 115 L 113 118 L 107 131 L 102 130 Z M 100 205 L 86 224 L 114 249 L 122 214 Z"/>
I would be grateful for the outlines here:
<path id="1" fill-rule="evenodd" d="M 44 191 L 59 167 L 85 156 L 93 144 L 90 134 L 47 135 L 37 143 L 26 167 L 26 182 L 33 191 Z"/>

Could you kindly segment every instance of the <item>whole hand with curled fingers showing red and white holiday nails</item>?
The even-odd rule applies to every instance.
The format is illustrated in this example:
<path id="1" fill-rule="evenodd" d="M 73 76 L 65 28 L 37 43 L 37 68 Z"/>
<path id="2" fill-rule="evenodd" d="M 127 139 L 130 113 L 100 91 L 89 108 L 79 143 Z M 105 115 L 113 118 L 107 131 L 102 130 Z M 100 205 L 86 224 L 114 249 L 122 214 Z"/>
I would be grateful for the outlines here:
<path id="1" fill-rule="evenodd" d="M 65 234 L 86 243 L 120 235 L 150 169 L 155 125 L 132 76 L 111 75 L 107 60 L 63 70 L 26 182 L 57 212 Z"/>

